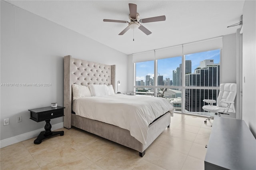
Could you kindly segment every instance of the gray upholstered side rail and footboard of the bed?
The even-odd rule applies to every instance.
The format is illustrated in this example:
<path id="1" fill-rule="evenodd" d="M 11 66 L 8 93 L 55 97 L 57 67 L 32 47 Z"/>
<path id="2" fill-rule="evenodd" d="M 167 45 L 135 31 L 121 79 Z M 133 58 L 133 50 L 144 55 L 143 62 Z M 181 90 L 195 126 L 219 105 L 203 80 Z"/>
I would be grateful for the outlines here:
<path id="1" fill-rule="evenodd" d="M 72 125 L 76 125 L 75 127 L 77 128 L 96 134 L 118 144 L 122 144 L 134 150 L 138 150 L 140 152 L 140 156 L 144 156 L 146 148 L 148 148 L 148 146 L 150 146 L 150 144 L 163 132 L 163 130 L 170 125 L 170 117 L 171 114 L 168 112 L 160 119 L 157 119 L 154 123 L 149 125 L 146 145 L 131 136 L 129 130 L 114 125 L 87 119 L 75 114 L 72 114 L 71 120 Z"/>

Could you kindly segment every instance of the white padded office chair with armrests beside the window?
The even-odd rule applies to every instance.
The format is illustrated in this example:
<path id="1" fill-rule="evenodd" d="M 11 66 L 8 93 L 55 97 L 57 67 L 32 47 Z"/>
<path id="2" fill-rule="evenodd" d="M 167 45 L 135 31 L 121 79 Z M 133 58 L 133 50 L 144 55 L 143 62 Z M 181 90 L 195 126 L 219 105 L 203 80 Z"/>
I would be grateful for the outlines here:
<path id="1" fill-rule="evenodd" d="M 236 113 L 236 109 L 234 107 L 234 100 L 236 98 L 236 84 L 235 83 L 223 83 L 220 84 L 220 93 L 217 99 L 217 105 L 213 105 L 216 103 L 215 100 L 204 99 L 203 101 L 208 103 L 202 107 L 205 111 L 215 113 L 215 115 L 229 115 L 229 113 Z M 204 121 L 214 119 L 214 117 L 209 117 Z"/>

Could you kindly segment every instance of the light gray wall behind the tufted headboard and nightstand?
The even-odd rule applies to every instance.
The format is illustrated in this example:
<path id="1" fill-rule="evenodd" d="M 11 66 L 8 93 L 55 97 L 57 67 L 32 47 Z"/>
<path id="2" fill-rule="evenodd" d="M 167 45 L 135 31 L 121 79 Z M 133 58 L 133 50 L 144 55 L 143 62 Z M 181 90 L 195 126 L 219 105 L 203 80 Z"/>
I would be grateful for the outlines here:
<path id="1" fill-rule="evenodd" d="M 116 64 L 116 80 L 122 82 L 118 90 L 126 91 L 126 54 L 1 1 L 0 83 L 51 83 L 50 87 L 1 86 L 1 140 L 44 127 L 45 122 L 29 119 L 28 109 L 52 102 L 63 106 L 65 55 Z M 22 116 L 21 123 L 17 123 L 17 116 Z M 3 126 L 5 118 L 10 119 L 10 125 Z M 63 117 L 51 120 L 52 125 L 62 122 Z"/>

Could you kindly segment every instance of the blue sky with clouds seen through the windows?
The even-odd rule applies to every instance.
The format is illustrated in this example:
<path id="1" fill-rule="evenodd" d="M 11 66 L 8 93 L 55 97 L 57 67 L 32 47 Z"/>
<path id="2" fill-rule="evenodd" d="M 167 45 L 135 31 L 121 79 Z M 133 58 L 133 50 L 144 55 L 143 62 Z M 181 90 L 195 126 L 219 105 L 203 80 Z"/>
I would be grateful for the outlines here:
<path id="1" fill-rule="evenodd" d="M 220 49 L 212 51 L 204 51 L 185 55 L 186 60 L 192 62 L 192 73 L 199 66 L 200 61 L 204 59 L 214 59 L 214 63 L 220 63 Z M 158 59 L 158 75 L 163 75 L 164 79 L 172 80 L 172 71 L 176 70 L 182 62 L 182 57 L 172 57 L 167 59 Z M 136 63 L 136 81 L 143 80 L 145 82 L 146 75 L 150 78 L 154 77 L 154 61 L 145 61 Z"/>

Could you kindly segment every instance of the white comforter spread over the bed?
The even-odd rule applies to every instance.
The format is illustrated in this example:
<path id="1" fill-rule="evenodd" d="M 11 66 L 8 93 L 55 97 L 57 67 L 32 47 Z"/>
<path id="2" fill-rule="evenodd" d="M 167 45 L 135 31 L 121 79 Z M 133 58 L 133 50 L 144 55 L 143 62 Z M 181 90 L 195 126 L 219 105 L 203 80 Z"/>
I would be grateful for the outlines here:
<path id="1" fill-rule="evenodd" d="M 162 97 L 112 96 L 85 97 L 76 101 L 76 115 L 130 130 L 131 136 L 142 144 L 148 138 L 148 125 L 174 108 Z"/>

